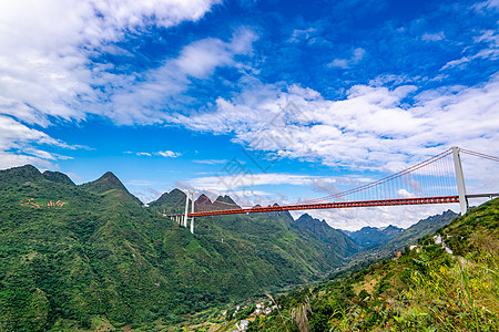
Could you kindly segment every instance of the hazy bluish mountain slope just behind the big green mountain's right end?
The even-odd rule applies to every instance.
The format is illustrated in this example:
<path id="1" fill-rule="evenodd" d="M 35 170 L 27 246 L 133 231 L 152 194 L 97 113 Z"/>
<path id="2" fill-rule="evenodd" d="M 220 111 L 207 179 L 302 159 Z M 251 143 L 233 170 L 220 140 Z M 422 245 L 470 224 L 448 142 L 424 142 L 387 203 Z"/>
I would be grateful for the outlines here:
<path id="1" fill-rule="evenodd" d="M 352 256 L 360 250 L 360 247 L 355 243 L 348 236 L 339 230 L 334 229 L 325 220 L 320 221 L 314 219 L 308 214 L 302 215 L 295 221 L 301 227 L 308 229 L 322 241 L 326 242 L 329 248 L 336 248 L 343 257 Z"/>

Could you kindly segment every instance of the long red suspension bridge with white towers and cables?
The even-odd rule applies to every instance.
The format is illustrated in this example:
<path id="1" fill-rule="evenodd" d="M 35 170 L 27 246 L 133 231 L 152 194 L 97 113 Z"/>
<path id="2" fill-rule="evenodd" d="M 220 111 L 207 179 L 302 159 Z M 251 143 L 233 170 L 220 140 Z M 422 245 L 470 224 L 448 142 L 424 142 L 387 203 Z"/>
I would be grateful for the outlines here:
<path id="1" fill-rule="evenodd" d="M 499 194 L 467 194 L 461 154 L 499 162 L 499 157 L 452 147 L 383 179 L 299 204 L 242 208 L 235 204 L 222 203 L 227 206 L 226 209 L 195 211 L 194 193 L 187 191 L 185 198 L 181 198 L 170 209 L 171 211 L 185 201 L 185 212 L 165 212 L 164 216 L 172 218 L 184 227 L 187 227 L 187 221 L 191 220 L 191 232 L 194 232 L 194 217 L 233 214 L 459 203 L 461 215 L 464 215 L 468 209 L 468 198 L 492 198 L 498 197 Z M 189 212 L 190 196 L 192 197 L 191 212 Z"/>

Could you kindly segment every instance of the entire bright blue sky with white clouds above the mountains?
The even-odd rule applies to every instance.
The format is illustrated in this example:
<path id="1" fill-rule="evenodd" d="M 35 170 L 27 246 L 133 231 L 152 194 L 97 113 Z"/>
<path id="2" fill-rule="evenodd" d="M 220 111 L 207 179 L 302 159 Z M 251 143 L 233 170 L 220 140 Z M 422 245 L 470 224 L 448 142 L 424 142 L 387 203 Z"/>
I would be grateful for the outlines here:
<path id="1" fill-rule="evenodd" d="M 454 145 L 498 156 L 498 19 L 497 0 L 2 1 L 0 167 L 75 183 L 112 170 L 143 201 L 180 187 L 253 205 Z M 497 190 L 485 167 L 465 160 L 468 183 Z M 355 229 L 446 208 L 313 215 Z"/>

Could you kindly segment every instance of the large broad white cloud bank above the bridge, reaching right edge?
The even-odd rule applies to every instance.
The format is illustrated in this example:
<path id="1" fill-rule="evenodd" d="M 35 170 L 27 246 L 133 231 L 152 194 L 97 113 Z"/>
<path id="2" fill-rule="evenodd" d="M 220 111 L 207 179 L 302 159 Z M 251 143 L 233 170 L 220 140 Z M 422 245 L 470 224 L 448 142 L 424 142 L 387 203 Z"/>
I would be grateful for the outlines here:
<path id="1" fill-rule="evenodd" d="M 454 145 L 499 155 L 497 145 L 479 144 L 499 138 L 499 76 L 456 89 L 355 85 L 346 98 L 328 101 L 297 85 L 253 83 L 233 100 L 218 98 L 214 112 L 172 122 L 234 133 L 249 148 L 277 156 L 357 170 L 400 170 Z M 404 103 L 409 95 L 413 106 Z M 284 121 L 275 125 L 276 116 Z"/>

